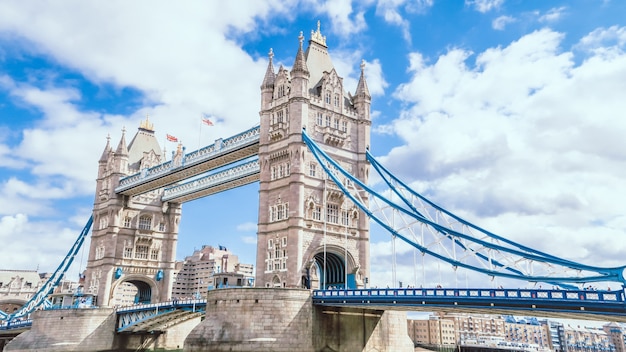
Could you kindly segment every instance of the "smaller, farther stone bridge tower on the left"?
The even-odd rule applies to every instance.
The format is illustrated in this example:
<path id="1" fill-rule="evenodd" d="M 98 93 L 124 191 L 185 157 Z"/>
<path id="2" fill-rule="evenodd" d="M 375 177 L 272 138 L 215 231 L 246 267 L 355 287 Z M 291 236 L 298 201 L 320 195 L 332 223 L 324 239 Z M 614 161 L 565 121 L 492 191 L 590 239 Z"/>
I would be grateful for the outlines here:
<path id="1" fill-rule="evenodd" d="M 179 145 L 175 157 L 180 153 Z M 128 146 L 124 131 L 115 150 L 107 138 L 98 162 L 85 273 L 85 290 L 97 294 L 99 306 L 170 298 L 181 205 L 163 203 L 161 189 L 137 196 L 115 193 L 121 178 L 163 161 L 148 118 Z"/>

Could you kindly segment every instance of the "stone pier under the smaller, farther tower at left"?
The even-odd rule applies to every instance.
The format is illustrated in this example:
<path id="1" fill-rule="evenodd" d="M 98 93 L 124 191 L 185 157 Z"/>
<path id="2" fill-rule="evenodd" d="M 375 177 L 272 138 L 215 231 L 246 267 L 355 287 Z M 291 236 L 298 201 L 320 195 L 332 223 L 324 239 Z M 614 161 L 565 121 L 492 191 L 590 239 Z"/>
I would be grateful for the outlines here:
<path id="1" fill-rule="evenodd" d="M 11 340 L 4 352 L 95 352 L 111 350 L 115 341 L 115 310 L 40 310 L 33 325 Z"/>

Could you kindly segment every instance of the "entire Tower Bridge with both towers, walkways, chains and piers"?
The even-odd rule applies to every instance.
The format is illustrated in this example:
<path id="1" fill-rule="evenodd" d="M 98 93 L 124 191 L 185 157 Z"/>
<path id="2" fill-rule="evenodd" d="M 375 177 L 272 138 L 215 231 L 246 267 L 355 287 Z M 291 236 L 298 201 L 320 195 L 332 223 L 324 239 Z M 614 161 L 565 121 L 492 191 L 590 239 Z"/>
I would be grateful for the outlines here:
<path id="1" fill-rule="evenodd" d="M 439 207 L 379 164 L 369 153 L 371 95 L 364 64 L 354 94 L 347 93 L 319 26 L 312 31 L 306 50 L 304 36 L 298 39 L 291 70 L 283 66 L 276 70 L 273 52 L 269 52 L 260 87 L 258 126 L 192 152 L 179 144 L 170 160 L 161 152 L 147 118 L 130 143 L 125 132 L 115 149 L 107 139 L 98 161 L 93 214 L 85 229 L 44 289 L 22 310 L 0 312 L 0 318 L 11 321 L 37 309 L 91 230 L 84 291 L 96 297 L 98 306 L 110 309 L 93 313 L 102 322 L 93 328 L 112 324 L 110 334 L 130 335 L 168 330 L 192 321 L 198 324 L 196 308 L 202 308 L 212 319 L 197 328 L 190 325 L 193 331 L 185 342 L 189 350 L 200 350 L 196 347 L 204 346 L 207 339 L 213 339 L 213 347 L 247 341 L 246 346 L 254 350 L 281 338 L 319 350 L 324 343 L 334 346 L 346 337 L 332 329 L 305 329 L 288 336 L 284 331 L 292 322 L 309 328 L 331 323 L 369 327 L 359 332 L 363 335 L 352 337 L 355 340 L 350 343 L 355 345 L 341 342 L 344 350 L 359 344 L 402 349 L 406 341 L 394 338 L 401 332 L 380 331 L 402 321 L 399 315 L 383 313 L 393 310 L 463 308 L 626 320 L 623 291 L 594 296 L 577 289 L 595 282 L 624 285 L 626 267 L 584 265 L 510 241 Z M 372 167 L 386 189 L 368 186 Z M 193 302 L 191 311 L 187 304 L 172 303 L 182 204 L 255 182 L 259 187 L 256 288 L 214 290 L 206 301 Z M 490 278 L 546 282 L 557 288 L 541 292 L 366 289 L 370 220 L 394 241 L 402 240 L 455 268 Z M 119 297 L 127 290 L 139 305 L 115 312 L 112 307 L 122 303 Z M 255 325 L 246 317 L 250 312 L 264 315 L 268 311 L 276 311 L 277 316 L 264 318 L 264 323 Z M 59 312 L 54 317 L 44 313 L 34 314 L 41 317 L 41 324 L 64 317 Z M 359 314 L 362 320 L 354 318 Z M 72 319 L 95 321 L 94 316 Z M 116 322 L 111 323 L 112 319 Z M 228 319 L 239 319 L 243 328 L 231 326 L 224 333 L 226 328 L 213 322 Z M 33 329 L 42 331 L 36 324 L 37 320 Z M 318 333 L 323 336 L 314 335 Z M 370 341 L 374 335 L 378 337 Z M 106 343 L 115 339 L 110 337 Z M 395 340 L 397 345 L 390 342 Z M 26 337 L 20 343 L 36 344 Z"/>

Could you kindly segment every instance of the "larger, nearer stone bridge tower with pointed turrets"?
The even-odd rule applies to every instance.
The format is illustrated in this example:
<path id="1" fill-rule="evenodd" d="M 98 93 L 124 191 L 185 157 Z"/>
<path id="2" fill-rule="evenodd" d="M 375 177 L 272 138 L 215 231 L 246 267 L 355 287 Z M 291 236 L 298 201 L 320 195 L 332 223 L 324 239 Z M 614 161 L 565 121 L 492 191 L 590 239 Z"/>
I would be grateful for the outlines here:
<path id="1" fill-rule="evenodd" d="M 261 164 L 257 287 L 362 287 L 369 276 L 369 219 L 326 177 L 302 141 L 302 129 L 352 175 L 367 183 L 370 104 L 361 65 L 346 93 L 319 22 L 306 52 L 299 37 L 291 71 L 261 85 Z M 342 182 L 346 182 L 343 180 Z"/>

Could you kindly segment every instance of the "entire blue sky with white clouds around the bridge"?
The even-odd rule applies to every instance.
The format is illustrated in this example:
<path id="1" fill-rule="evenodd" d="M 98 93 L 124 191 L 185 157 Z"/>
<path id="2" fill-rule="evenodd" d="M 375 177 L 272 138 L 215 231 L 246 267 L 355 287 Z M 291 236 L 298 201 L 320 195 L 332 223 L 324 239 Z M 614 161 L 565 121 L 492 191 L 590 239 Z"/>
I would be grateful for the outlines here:
<path id="1" fill-rule="evenodd" d="M 258 124 L 270 48 L 290 67 L 318 20 L 351 92 L 366 62 L 387 168 L 500 235 L 623 265 L 625 13 L 616 0 L 2 1 L 0 268 L 56 268 L 108 134 L 129 140 L 149 115 L 168 150 L 165 134 L 193 150 Z M 184 204 L 179 259 L 209 244 L 255 263 L 257 190 Z M 412 284 L 413 255 L 396 250 Z M 372 284 L 392 284 L 375 227 L 371 254 Z M 426 284 L 454 285 L 424 265 Z"/>

